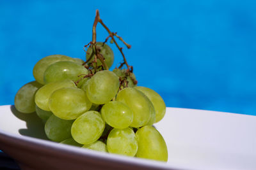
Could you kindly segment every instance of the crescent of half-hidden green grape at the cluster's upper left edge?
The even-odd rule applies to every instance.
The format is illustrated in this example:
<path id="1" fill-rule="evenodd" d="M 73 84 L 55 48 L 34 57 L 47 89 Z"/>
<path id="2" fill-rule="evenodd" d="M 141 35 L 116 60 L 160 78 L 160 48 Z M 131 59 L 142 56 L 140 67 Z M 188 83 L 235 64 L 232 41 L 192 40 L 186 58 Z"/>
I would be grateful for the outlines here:
<path id="1" fill-rule="evenodd" d="M 38 83 L 41 83 L 42 85 L 44 85 L 44 72 L 47 69 L 47 67 L 53 64 L 54 62 L 61 61 L 61 60 L 74 61 L 74 59 L 66 55 L 56 54 L 56 55 L 49 55 L 39 60 L 38 62 L 36 62 L 36 65 L 33 68 L 33 76 L 35 80 Z"/>

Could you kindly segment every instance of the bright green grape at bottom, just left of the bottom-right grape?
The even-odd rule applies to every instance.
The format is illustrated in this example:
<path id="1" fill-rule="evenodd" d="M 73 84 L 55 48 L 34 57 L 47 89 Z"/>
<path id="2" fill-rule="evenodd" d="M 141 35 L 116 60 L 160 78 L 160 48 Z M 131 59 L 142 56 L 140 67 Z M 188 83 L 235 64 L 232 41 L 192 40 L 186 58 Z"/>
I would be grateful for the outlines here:
<path id="1" fill-rule="evenodd" d="M 107 147 L 109 153 L 134 157 L 138 150 L 138 141 L 131 128 L 114 128 L 108 135 Z"/>

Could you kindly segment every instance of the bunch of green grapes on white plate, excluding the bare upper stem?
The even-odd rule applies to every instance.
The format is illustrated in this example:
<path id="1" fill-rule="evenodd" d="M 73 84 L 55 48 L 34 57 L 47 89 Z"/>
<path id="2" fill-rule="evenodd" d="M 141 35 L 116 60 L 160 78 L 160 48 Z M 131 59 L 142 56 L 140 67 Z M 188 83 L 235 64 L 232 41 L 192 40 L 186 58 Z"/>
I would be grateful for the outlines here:
<path id="1" fill-rule="evenodd" d="M 108 67 L 113 52 L 97 43 Z M 65 55 L 49 55 L 33 68 L 35 81 L 15 96 L 15 108 L 42 118 L 52 141 L 100 152 L 167 161 L 166 143 L 152 126 L 165 114 L 163 99 L 154 90 L 138 87 L 127 69 L 104 70 Z M 94 70 L 92 69 L 94 68 Z"/>

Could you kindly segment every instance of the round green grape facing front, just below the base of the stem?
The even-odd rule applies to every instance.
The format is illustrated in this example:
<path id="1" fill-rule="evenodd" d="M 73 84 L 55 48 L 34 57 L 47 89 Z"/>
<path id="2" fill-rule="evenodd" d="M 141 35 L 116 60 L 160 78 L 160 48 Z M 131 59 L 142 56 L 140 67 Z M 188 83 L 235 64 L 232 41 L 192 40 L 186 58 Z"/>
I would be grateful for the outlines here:
<path id="1" fill-rule="evenodd" d="M 86 85 L 86 94 L 92 103 L 105 104 L 115 97 L 119 89 L 119 80 L 112 71 L 97 72 Z"/>

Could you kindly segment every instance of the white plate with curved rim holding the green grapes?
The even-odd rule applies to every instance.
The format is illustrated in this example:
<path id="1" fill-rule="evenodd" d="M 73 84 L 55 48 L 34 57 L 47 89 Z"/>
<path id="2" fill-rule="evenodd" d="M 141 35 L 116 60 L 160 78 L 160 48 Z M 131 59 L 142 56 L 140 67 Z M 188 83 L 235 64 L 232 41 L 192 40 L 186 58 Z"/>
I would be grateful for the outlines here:
<path id="1" fill-rule="evenodd" d="M 0 106 L 0 149 L 24 169 L 256 169 L 255 116 L 167 108 L 155 126 L 168 146 L 167 163 L 46 141 L 35 114 Z"/>

